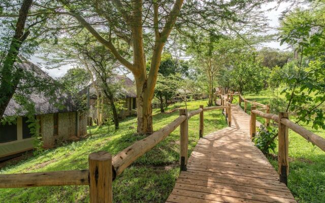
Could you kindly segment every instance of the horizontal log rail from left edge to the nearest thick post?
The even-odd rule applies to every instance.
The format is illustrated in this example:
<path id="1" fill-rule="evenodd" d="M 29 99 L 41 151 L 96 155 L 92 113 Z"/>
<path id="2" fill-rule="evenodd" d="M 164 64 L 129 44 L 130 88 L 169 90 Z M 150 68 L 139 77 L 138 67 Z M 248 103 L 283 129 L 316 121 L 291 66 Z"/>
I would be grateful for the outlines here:
<path id="1" fill-rule="evenodd" d="M 89 185 L 89 171 L 0 174 L 0 188 Z"/>

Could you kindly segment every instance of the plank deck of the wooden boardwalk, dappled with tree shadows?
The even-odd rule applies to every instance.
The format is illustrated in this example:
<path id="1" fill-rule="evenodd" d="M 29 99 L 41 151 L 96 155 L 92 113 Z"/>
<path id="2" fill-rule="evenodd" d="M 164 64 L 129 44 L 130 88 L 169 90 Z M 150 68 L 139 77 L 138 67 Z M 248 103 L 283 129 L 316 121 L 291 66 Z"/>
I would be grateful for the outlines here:
<path id="1" fill-rule="evenodd" d="M 249 118 L 232 105 L 232 126 L 199 140 L 166 202 L 296 202 L 251 142 Z"/>

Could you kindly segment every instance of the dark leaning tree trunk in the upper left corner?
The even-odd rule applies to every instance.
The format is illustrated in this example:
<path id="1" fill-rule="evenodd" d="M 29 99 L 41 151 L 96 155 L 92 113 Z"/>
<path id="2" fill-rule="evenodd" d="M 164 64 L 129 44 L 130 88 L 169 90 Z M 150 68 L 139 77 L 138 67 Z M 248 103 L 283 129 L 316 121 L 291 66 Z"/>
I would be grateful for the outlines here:
<path id="1" fill-rule="evenodd" d="M 14 63 L 17 60 L 19 49 L 22 43 L 26 40 L 29 35 L 29 31 L 24 32 L 25 22 L 28 11 L 32 4 L 32 0 L 24 0 L 20 10 L 19 17 L 16 24 L 15 35 L 11 41 L 9 51 L 4 60 L 4 65 L 1 71 L 1 84 L 0 84 L 0 119 L 3 118 L 5 110 L 9 104 L 10 99 L 15 93 L 18 83 L 22 77 L 21 70 L 14 70 Z"/>

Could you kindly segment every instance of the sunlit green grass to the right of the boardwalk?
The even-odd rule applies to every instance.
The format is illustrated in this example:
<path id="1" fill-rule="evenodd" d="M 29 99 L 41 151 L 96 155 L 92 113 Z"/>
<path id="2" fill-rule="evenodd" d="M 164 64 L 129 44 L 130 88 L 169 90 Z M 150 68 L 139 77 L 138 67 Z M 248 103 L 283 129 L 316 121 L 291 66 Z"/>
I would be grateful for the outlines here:
<path id="1" fill-rule="evenodd" d="M 271 95 L 269 90 L 264 90 L 258 94 L 247 94 L 245 98 L 269 104 Z M 243 105 L 242 103 L 242 108 Z M 247 105 L 247 110 L 250 110 L 250 104 Z M 289 117 L 295 120 L 294 116 Z M 264 123 L 263 118 L 257 117 L 257 119 Z M 300 124 L 325 138 L 324 130 L 315 130 L 311 125 Z M 299 202 L 325 202 L 325 152 L 308 143 L 296 132 L 289 130 L 289 157 L 288 187 L 294 196 Z M 269 160 L 277 169 L 277 160 L 272 157 L 269 157 Z"/>

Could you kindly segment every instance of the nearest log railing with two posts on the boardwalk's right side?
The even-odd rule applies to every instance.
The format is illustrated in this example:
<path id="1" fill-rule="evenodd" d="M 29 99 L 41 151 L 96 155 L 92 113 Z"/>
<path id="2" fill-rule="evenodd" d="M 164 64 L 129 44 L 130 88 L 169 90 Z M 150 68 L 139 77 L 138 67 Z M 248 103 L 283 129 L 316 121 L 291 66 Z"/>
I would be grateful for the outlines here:
<path id="1" fill-rule="evenodd" d="M 256 134 L 256 116 L 271 119 L 278 123 L 278 174 L 280 177 L 280 182 L 287 184 L 287 176 L 289 174 L 289 128 L 300 134 L 308 142 L 311 142 L 312 144 L 319 147 L 321 150 L 325 151 L 325 139 L 320 136 L 317 136 L 317 134 L 303 128 L 302 126 L 290 121 L 287 112 L 280 112 L 279 115 L 264 113 L 262 111 L 256 110 L 256 106 L 251 106 L 251 138 L 255 137 Z"/>

